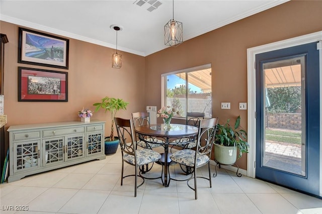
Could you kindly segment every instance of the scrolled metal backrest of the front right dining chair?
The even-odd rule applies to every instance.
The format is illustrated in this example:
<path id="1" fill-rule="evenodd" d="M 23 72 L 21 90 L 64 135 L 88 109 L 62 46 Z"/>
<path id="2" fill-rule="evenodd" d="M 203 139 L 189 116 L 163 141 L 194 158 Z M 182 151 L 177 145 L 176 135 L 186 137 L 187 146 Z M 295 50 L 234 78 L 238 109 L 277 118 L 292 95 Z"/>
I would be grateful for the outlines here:
<path id="1" fill-rule="evenodd" d="M 218 118 L 200 120 L 195 158 L 203 155 L 208 155 L 210 158 L 218 120 Z"/>

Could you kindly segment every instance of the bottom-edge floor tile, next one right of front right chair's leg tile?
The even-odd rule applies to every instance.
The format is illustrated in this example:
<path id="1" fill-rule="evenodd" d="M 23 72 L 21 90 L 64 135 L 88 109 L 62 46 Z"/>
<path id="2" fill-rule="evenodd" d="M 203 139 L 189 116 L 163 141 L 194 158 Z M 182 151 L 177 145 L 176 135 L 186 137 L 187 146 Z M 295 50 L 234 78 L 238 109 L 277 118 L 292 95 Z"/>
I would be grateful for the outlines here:
<path id="1" fill-rule="evenodd" d="M 212 195 L 221 213 L 261 213 L 244 193 L 213 193 Z"/>

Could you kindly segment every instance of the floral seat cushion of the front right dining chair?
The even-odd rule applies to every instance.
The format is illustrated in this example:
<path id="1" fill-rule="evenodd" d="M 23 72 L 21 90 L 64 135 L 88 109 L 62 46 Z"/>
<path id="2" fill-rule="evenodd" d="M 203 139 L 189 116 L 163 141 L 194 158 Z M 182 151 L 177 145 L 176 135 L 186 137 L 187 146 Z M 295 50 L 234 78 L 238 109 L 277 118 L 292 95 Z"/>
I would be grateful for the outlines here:
<path id="1" fill-rule="evenodd" d="M 191 149 L 183 149 L 178 152 L 173 153 L 170 156 L 170 159 L 179 163 L 184 164 L 186 166 L 193 167 L 195 164 L 195 155 L 196 151 Z M 209 157 L 207 155 L 203 155 L 197 158 L 196 166 L 200 166 L 202 164 L 205 164 L 209 161 Z"/>

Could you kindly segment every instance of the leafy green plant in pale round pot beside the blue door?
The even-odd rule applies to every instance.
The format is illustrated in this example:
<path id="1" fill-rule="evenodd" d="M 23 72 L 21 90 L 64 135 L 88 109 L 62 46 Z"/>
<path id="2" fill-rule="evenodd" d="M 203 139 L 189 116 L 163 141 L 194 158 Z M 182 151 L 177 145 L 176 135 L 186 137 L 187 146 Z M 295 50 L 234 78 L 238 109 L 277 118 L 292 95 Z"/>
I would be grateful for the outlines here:
<path id="1" fill-rule="evenodd" d="M 217 125 L 215 135 L 215 161 L 219 164 L 232 165 L 243 153 L 248 153 L 249 144 L 245 141 L 247 133 L 239 128 L 240 116 L 237 117 L 234 127 L 229 125 L 229 119 L 224 125 Z"/>

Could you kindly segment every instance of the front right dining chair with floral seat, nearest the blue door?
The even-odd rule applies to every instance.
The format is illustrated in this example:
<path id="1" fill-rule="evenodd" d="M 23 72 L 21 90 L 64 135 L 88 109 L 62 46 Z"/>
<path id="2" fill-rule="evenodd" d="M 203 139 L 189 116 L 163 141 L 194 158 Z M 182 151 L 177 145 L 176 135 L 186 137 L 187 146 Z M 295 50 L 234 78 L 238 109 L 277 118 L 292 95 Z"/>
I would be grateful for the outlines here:
<path id="1" fill-rule="evenodd" d="M 170 159 L 176 163 L 187 166 L 187 169 L 192 169 L 189 174 L 190 177 L 187 179 L 179 180 L 170 178 L 176 181 L 187 181 L 189 188 L 195 191 L 195 199 L 197 199 L 197 178 L 204 178 L 209 180 L 211 188 L 211 175 L 210 175 L 210 157 L 212 145 L 215 141 L 215 133 L 218 124 L 218 118 L 204 119 L 199 122 L 198 136 L 197 136 L 197 147 L 196 150 L 183 149 L 173 153 Z M 209 178 L 196 176 L 197 168 L 208 164 Z M 195 185 L 192 187 L 189 185 L 189 181 L 194 179 Z"/>

